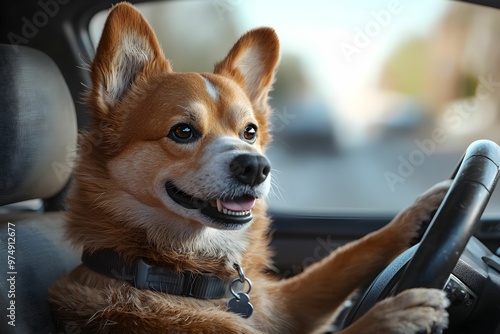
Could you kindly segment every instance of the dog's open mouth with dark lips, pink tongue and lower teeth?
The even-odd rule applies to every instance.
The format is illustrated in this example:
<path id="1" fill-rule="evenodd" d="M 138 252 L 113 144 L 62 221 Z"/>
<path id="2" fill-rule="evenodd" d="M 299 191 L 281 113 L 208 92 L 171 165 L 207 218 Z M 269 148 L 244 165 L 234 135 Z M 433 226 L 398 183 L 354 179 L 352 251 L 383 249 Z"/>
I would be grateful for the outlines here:
<path id="1" fill-rule="evenodd" d="M 202 200 L 186 194 L 172 182 L 165 185 L 167 194 L 179 205 L 187 209 L 200 210 L 214 223 L 224 226 L 244 225 L 252 221 L 252 208 L 256 198 L 250 195 L 230 199 Z"/>

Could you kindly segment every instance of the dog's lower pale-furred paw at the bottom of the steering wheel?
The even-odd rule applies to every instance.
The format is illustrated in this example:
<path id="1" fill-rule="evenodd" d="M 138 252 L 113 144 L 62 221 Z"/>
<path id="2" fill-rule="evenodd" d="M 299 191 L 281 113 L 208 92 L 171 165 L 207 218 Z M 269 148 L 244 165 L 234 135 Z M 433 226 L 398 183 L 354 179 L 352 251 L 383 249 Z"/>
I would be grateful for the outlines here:
<path id="1" fill-rule="evenodd" d="M 376 304 L 359 323 L 360 333 L 442 333 L 450 302 L 441 290 L 410 289 Z"/>

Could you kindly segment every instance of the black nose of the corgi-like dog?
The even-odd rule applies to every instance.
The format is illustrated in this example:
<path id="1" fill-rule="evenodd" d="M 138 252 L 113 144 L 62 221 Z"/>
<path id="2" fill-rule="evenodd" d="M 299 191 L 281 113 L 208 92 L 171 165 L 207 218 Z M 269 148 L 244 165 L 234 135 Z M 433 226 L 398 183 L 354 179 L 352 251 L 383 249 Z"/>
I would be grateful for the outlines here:
<path id="1" fill-rule="evenodd" d="M 260 154 L 240 154 L 231 161 L 229 169 L 239 181 L 253 187 L 264 182 L 271 163 Z"/>

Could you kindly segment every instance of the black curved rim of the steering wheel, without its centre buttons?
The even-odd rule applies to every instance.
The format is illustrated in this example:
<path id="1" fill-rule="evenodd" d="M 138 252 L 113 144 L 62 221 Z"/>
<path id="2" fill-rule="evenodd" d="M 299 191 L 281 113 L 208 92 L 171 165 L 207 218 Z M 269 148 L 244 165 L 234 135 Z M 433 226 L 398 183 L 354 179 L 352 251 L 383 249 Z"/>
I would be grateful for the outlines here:
<path id="1" fill-rule="evenodd" d="M 500 147 L 494 142 L 478 140 L 467 148 L 420 243 L 402 253 L 373 281 L 341 329 L 388 295 L 410 288 L 445 286 L 497 184 L 499 167 Z"/>

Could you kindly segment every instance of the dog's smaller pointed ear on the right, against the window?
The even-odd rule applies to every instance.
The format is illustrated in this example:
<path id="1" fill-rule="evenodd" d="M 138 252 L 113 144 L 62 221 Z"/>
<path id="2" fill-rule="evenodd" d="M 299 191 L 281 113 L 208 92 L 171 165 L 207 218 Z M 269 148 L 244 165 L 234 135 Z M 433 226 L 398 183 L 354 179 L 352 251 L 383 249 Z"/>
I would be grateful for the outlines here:
<path id="1" fill-rule="evenodd" d="M 279 61 L 279 40 L 272 28 L 247 32 L 224 60 L 215 65 L 215 74 L 231 77 L 244 88 L 257 111 L 268 111 L 267 100 Z"/>

